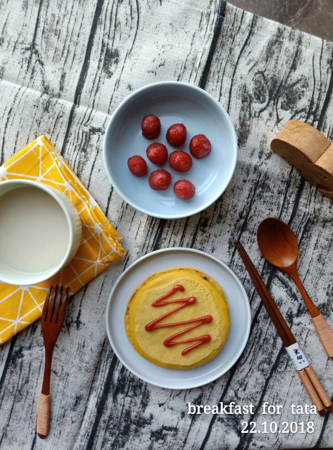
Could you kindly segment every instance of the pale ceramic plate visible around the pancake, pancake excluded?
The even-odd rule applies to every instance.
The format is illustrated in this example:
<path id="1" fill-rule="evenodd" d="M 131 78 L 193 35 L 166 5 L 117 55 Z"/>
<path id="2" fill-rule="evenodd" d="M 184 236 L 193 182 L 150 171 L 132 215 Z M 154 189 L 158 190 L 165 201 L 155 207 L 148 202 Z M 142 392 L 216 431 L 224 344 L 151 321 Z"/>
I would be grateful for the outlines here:
<path id="1" fill-rule="evenodd" d="M 126 306 L 135 288 L 149 275 L 173 267 L 193 267 L 213 277 L 229 305 L 231 324 L 225 345 L 213 360 L 194 369 L 166 369 L 151 363 L 134 350 L 125 331 Z M 134 375 L 156 386 L 190 389 L 216 380 L 235 364 L 249 338 L 251 312 L 240 280 L 225 264 L 199 250 L 166 248 L 138 259 L 119 277 L 107 303 L 106 323 L 115 354 Z"/>

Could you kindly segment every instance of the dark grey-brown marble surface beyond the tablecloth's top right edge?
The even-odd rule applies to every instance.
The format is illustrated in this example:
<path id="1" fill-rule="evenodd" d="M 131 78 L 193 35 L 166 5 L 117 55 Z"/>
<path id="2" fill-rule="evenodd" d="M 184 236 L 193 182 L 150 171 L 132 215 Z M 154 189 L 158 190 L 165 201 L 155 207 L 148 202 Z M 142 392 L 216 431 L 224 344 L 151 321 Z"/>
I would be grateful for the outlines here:
<path id="1" fill-rule="evenodd" d="M 333 41 L 332 0 L 228 0 L 258 16 Z"/>

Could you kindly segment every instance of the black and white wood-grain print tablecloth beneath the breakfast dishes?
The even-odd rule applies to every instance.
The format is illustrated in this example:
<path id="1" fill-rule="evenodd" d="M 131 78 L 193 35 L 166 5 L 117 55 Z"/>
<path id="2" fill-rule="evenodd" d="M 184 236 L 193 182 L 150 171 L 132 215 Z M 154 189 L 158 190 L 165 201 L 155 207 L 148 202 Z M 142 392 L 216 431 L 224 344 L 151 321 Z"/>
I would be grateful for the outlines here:
<path id="1" fill-rule="evenodd" d="M 254 291 L 233 242 L 241 239 L 281 311 L 332 394 L 333 363 L 286 275 L 265 263 L 256 229 L 266 216 L 291 225 L 300 243 L 302 281 L 333 325 L 332 205 L 288 162 L 272 137 L 291 119 L 332 140 L 333 44 L 218 0 L 0 1 L 0 163 L 46 134 L 62 151 L 117 230 L 127 256 L 68 305 L 53 357 L 50 433 L 35 434 L 44 365 L 40 323 L 0 349 L 0 448 L 276 449 L 329 447 L 333 418 L 289 412 L 309 403 L 295 369 Z M 226 192 L 182 220 L 148 217 L 112 189 L 102 142 L 117 105 L 162 80 L 192 83 L 216 97 L 238 136 L 235 174 Z M 207 386 L 170 391 L 130 374 L 107 340 L 110 290 L 138 257 L 164 247 L 213 254 L 240 277 L 252 328 L 235 366 Z M 256 405 L 251 416 L 186 414 L 186 402 Z M 262 416 L 260 405 L 284 405 Z M 312 434 L 241 434 L 242 420 L 313 420 Z"/>

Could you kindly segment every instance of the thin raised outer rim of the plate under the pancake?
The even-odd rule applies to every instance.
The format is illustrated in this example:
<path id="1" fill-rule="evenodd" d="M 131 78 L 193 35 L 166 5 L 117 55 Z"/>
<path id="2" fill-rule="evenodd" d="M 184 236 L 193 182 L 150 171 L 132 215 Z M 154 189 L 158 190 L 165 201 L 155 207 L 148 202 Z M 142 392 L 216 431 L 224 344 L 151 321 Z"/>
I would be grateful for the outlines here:
<path id="1" fill-rule="evenodd" d="M 235 279 L 236 283 L 239 284 L 241 291 L 243 292 L 245 299 L 247 300 L 247 302 L 245 302 L 246 305 L 246 312 L 247 312 L 247 327 L 246 327 L 246 333 L 245 333 L 245 339 L 244 342 L 242 344 L 242 346 L 240 347 L 240 349 L 238 350 L 238 352 L 235 354 L 235 356 L 232 359 L 232 362 L 226 367 L 226 369 L 222 370 L 222 373 L 218 374 L 218 375 L 213 375 L 210 378 L 207 378 L 207 381 L 205 381 L 204 383 L 199 382 L 199 383 L 194 383 L 192 384 L 190 387 L 170 387 L 168 385 L 165 385 L 163 383 L 154 383 L 151 382 L 151 380 L 148 380 L 146 377 L 142 377 L 141 375 L 138 375 L 135 371 L 135 369 L 133 370 L 132 368 L 130 368 L 122 359 L 122 357 L 118 354 L 118 351 L 115 349 L 114 343 L 112 341 L 111 338 L 111 333 L 110 333 L 110 329 L 109 329 L 109 322 L 108 322 L 108 317 L 109 317 L 109 311 L 111 308 L 111 298 L 115 292 L 115 289 L 117 288 L 118 284 L 120 284 L 121 279 L 127 274 L 127 272 L 129 272 L 129 270 L 133 269 L 133 266 L 136 266 L 139 262 L 155 255 L 156 253 L 163 253 L 163 252 L 171 252 L 171 251 L 182 251 L 182 252 L 193 252 L 193 253 L 199 253 L 202 256 L 205 257 L 209 257 L 211 258 L 213 261 L 218 262 L 218 264 L 220 264 L 221 266 L 223 266 L 230 274 L 231 276 Z M 109 297 L 107 299 L 107 307 L 106 307 L 106 311 L 105 311 L 105 322 L 106 322 L 106 329 L 107 329 L 107 338 L 109 339 L 109 343 L 112 347 L 112 350 L 115 352 L 115 355 L 117 356 L 117 358 L 120 360 L 121 364 L 124 365 L 124 367 L 126 367 L 127 370 L 129 370 L 129 372 L 131 372 L 131 374 L 134 374 L 137 378 L 141 379 L 142 381 L 152 384 L 153 386 L 157 386 L 157 387 L 162 387 L 164 389 L 175 389 L 175 390 L 182 390 L 182 389 L 193 389 L 195 387 L 201 387 L 201 386 L 205 386 L 206 384 L 212 383 L 213 381 L 215 381 L 216 379 L 222 377 L 222 375 L 226 374 L 226 372 L 228 372 L 231 367 L 233 367 L 235 365 L 235 363 L 237 362 L 237 360 L 240 358 L 240 356 L 242 355 L 248 341 L 249 341 L 249 334 L 250 334 L 250 329 L 251 329 L 251 307 L 250 307 L 250 303 L 249 303 L 249 297 L 244 289 L 243 284 L 240 282 L 240 279 L 237 277 L 237 275 L 233 272 L 233 270 L 230 269 L 230 267 L 228 267 L 224 262 L 220 261 L 218 258 L 214 257 L 213 255 L 210 255 L 207 252 L 203 252 L 202 250 L 197 250 L 195 248 L 188 248 L 188 247 L 168 247 L 168 248 L 160 248 L 159 250 L 154 250 L 153 252 L 149 252 L 146 255 L 143 255 L 142 257 L 138 258 L 136 261 L 133 261 L 133 263 L 127 267 L 127 269 L 124 270 L 124 272 L 119 276 L 119 278 L 116 280 L 113 288 L 111 289 L 111 292 L 109 294 Z"/>

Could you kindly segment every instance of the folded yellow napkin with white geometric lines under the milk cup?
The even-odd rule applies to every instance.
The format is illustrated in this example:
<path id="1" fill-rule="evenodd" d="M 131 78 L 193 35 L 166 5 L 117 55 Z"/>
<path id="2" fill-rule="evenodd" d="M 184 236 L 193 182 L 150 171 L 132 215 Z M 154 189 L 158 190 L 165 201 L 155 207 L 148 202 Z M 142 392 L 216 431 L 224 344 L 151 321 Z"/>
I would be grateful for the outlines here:
<path id="1" fill-rule="evenodd" d="M 13 179 L 38 181 L 67 195 L 80 213 L 82 240 L 70 264 L 44 283 L 0 283 L 0 344 L 40 318 L 51 284 L 68 286 L 73 294 L 125 254 L 120 234 L 46 136 L 31 142 L 0 167 L 1 181 Z"/>

